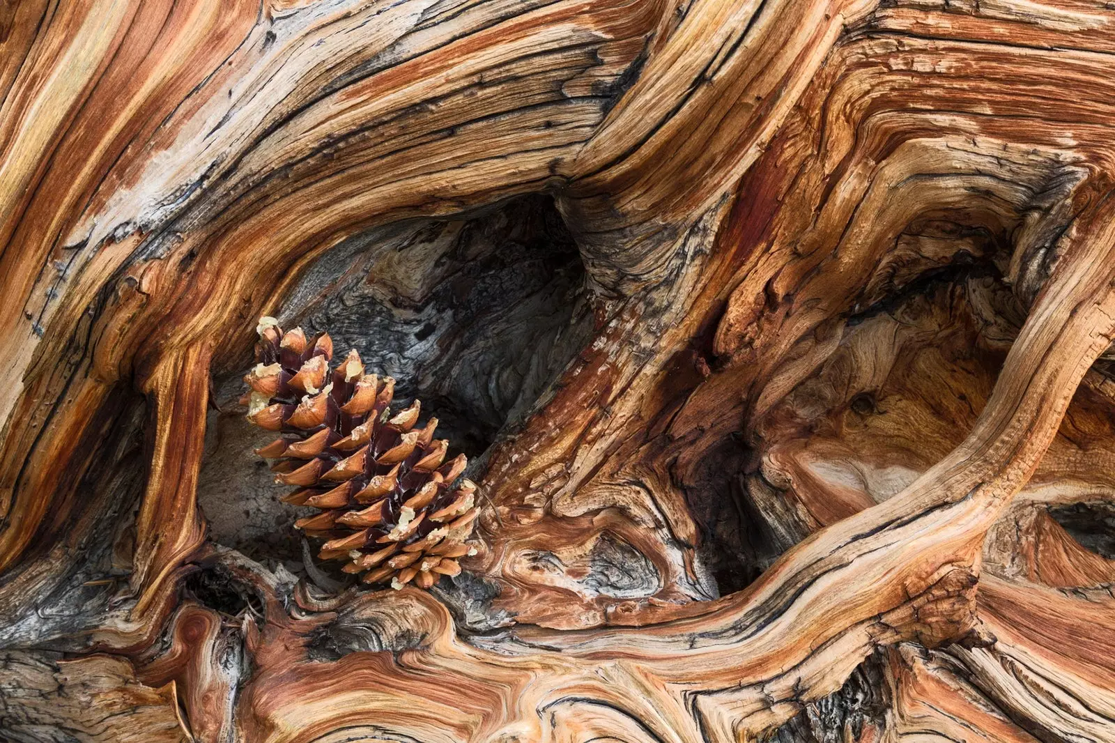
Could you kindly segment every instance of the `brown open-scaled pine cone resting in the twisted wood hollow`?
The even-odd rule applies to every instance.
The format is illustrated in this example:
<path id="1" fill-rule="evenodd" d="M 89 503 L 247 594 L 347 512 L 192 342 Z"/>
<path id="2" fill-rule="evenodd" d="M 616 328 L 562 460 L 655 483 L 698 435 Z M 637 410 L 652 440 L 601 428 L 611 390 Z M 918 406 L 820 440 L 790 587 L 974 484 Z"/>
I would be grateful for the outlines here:
<path id="1" fill-rule="evenodd" d="M 327 334 L 310 342 L 269 317 L 256 331 L 259 364 L 244 377 L 251 389 L 242 402 L 249 421 L 282 434 L 255 452 L 274 460 L 275 482 L 298 486 L 282 500 L 321 509 L 294 522 L 328 540 L 318 557 L 349 560 L 346 572 L 392 588 L 411 580 L 429 588 L 459 573 L 456 558 L 476 553 L 465 542 L 476 485 L 453 488 L 467 460 L 443 464 L 448 442 L 434 441 L 437 418 L 415 428 L 417 399 L 392 416 L 395 379 L 365 374 L 356 350 L 330 372 Z"/>

